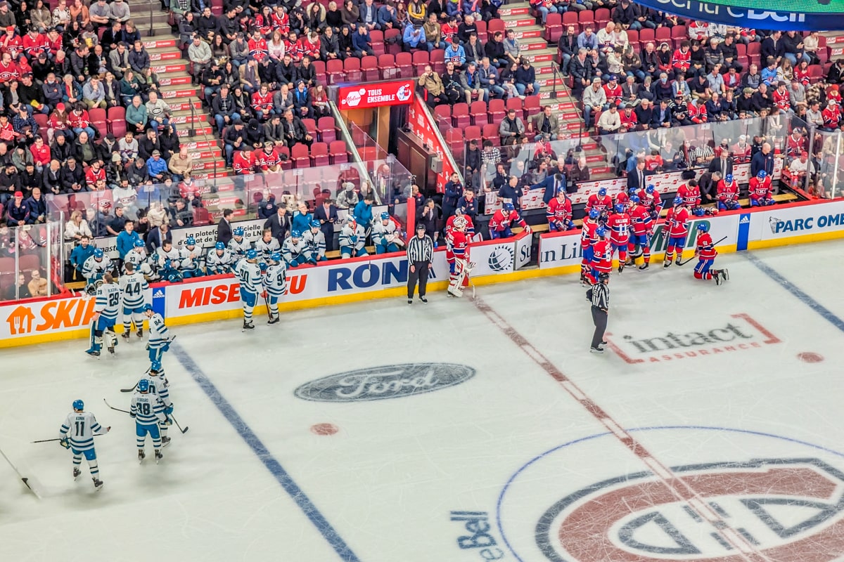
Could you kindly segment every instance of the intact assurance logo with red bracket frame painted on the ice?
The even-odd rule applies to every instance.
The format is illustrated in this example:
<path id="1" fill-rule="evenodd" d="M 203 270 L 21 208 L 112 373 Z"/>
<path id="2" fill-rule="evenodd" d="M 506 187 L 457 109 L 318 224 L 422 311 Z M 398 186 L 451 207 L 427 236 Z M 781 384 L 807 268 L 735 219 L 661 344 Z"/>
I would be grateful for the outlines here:
<path id="1" fill-rule="evenodd" d="M 714 356 L 730 351 L 759 349 L 780 343 L 780 339 L 749 314 L 733 314 L 717 326 L 706 326 L 689 332 L 668 331 L 664 334 L 634 337 L 611 335 L 610 348 L 630 364 L 659 363 L 695 357 Z"/>

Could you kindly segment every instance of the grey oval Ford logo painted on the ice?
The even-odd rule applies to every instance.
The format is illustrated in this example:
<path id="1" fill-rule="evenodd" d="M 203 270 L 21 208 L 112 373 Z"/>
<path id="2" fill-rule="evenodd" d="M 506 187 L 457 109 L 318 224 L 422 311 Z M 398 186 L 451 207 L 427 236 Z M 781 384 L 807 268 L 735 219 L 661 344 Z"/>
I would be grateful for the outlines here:
<path id="1" fill-rule="evenodd" d="M 474 377 L 454 363 L 404 363 L 341 372 L 296 388 L 296 397 L 316 402 L 366 402 L 430 393 Z"/>

